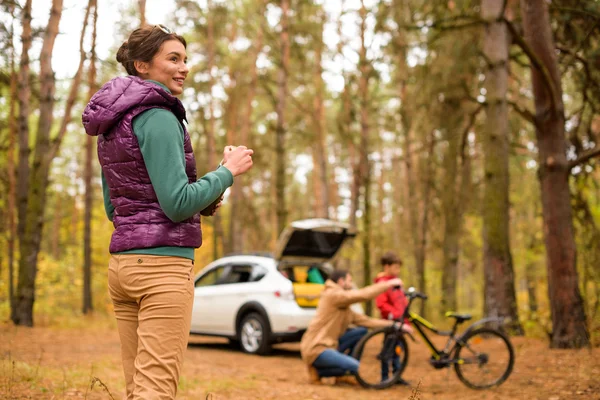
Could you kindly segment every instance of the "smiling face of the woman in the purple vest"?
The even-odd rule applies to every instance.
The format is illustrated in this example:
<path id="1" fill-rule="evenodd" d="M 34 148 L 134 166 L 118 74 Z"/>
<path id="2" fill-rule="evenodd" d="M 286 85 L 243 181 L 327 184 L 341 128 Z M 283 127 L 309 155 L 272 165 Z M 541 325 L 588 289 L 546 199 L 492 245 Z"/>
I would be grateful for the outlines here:
<path id="1" fill-rule="evenodd" d="M 140 71 L 140 76 L 162 83 L 177 96 L 183 93 L 183 81 L 189 72 L 186 62 L 187 55 L 183 43 L 179 40 L 167 40 L 152 61 L 144 63 L 144 71 Z"/>

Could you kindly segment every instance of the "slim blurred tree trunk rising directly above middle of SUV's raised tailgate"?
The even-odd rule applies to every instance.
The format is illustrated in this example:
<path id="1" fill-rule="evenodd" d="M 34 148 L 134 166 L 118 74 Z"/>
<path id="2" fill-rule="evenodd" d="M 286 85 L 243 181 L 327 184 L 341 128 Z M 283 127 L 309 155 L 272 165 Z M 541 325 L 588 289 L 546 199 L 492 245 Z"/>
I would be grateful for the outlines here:
<path id="1" fill-rule="evenodd" d="M 329 218 L 329 183 L 327 180 L 327 154 L 325 151 L 325 107 L 323 82 L 323 27 L 324 17 L 319 15 L 319 31 L 316 37 L 315 48 L 315 97 L 313 101 L 314 108 L 314 126 L 315 142 L 313 144 L 314 159 L 314 185 L 315 185 L 315 214 L 317 218 Z"/>

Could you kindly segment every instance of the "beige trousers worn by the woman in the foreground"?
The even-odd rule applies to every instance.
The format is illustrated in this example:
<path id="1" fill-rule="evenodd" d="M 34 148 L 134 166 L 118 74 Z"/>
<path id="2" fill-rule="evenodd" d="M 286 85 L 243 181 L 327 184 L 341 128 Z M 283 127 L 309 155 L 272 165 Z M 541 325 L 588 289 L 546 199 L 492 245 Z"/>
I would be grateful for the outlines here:
<path id="1" fill-rule="evenodd" d="M 187 258 L 110 257 L 108 289 L 121 338 L 127 400 L 175 398 L 190 333 L 192 274 Z"/>

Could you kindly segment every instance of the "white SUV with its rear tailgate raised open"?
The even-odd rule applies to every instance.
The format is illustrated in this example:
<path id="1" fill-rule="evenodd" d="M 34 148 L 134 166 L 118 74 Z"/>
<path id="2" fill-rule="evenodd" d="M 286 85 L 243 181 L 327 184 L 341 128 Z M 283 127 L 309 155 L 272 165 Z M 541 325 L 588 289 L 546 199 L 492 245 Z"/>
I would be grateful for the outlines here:
<path id="1" fill-rule="evenodd" d="M 213 261 L 195 278 L 191 333 L 227 337 L 256 354 L 299 341 L 331 273 L 329 262 L 354 236 L 347 224 L 296 221 L 282 232 L 273 256 Z"/>

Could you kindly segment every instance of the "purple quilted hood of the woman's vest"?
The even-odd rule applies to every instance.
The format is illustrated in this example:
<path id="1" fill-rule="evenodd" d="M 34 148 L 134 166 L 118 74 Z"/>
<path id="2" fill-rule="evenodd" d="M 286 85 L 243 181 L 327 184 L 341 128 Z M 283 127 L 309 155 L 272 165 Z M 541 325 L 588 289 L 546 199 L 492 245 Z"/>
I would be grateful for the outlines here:
<path id="1" fill-rule="evenodd" d="M 139 106 L 165 107 L 179 120 L 185 120 L 183 105 L 165 89 L 137 76 L 120 76 L 105 83 L 90 99 L 82 115 L 85 132 L 103 135 Z"/>

